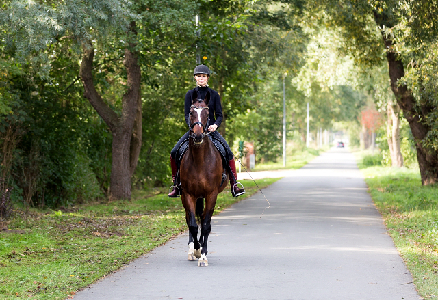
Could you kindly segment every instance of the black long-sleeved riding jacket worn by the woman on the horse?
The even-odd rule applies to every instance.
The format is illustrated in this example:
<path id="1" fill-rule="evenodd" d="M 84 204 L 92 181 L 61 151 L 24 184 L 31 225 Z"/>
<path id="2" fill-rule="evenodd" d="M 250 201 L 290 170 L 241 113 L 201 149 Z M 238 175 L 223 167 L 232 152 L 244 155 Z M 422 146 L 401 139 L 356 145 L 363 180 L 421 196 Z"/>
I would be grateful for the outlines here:
<path id="1" fill-rule="evenodd" d="M 188 91 L 187 94 L 185 94 L 185 100 L 184 100 L 185 123 L 190 127 L 189 113 L 190 113 L 190 107 L 192 106 L 192 97 L 194 90 L 196 90 L 196 92 L 198 93 L 197 98 L 202 98 L 202 99 L 205 99 L 207 92 L 210 93 L 210 101 L 208 103 L 210 122 L 209 124 L 207 124 L 207 127 L 213 124 L 218 125 L 219 127 L 220 123 L 222 123 L 222 119 L 224 118 L 224 115 L 222 115 L 222 104 L 220 103 L 220 96 L 218 92 L 212 90 L 209 87 L 196 87 L 193 90 Z"/>

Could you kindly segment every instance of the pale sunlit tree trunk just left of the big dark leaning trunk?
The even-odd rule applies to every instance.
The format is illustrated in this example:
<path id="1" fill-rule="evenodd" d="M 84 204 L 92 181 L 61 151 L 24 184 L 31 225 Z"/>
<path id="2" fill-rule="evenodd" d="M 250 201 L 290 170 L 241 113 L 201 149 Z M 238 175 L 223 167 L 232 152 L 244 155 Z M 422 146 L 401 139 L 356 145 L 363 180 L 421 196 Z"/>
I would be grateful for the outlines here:
<path id="1" fill-rule="evenodd" d="M 398 116 L 398 105 L 388 103 L 387 105 L 387 141 L 391 163 L 393 167 L 403 166 L 403 156 L 400 150 L 400 119 Z"/>

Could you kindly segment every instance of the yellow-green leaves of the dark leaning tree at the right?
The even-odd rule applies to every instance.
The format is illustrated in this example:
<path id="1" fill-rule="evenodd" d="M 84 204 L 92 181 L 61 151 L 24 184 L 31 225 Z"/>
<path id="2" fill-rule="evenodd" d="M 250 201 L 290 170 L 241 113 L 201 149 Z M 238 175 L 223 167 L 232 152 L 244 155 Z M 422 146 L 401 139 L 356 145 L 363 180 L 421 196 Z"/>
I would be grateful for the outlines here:
<path id="1" fill-rule="evenodd" d="M 426 130 L 425 137 L 416 135 L 417 143 L 421 143 L 429 152 L 436 151 L 438 118 L 435 59 L 438 23 L 436 18 L 428 16 L 437 12 L 437 3 L 346 0 L 340 4 L 339 1 L 326 0 L 313 3 L 311 8 L 321 18 L 321 23 L 339 29 L 344 38 L 342 49 L 352 55 L 362 69 L 381 66 L 379 62 L 385 59 L 385 53 L 396 55 L 404 68 L 404 76 L 398 84 L 405 85 L 414 96 L 416 113 Z M 387 43 L 385 49 L 381 33 Z M 383 87 L 381 92 L 386 94 L 389 87 L 387 84 Z M 391 98 L 386 98 L 384 103 L 394 101 Z M 423 171 L 423 174 L 436 174 L 437 169 L 430 167 Z"/>

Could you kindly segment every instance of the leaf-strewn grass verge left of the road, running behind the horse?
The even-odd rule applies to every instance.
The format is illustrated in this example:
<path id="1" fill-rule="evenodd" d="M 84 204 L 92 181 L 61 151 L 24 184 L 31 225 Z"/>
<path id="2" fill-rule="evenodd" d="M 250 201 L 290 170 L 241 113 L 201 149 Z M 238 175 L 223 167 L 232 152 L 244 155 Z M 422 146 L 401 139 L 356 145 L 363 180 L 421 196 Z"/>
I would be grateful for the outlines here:
<path id="1" fill-rule="evenodd" d="M 278 179 L 257 183 L 263 188 Z M 258 191 L 254 182 L 242 183 L 244 196 Z M 145 195 L 151 193 L 136 192 L 131 202 L 86 205 L 70 213 L 16 212 L 7 225 L 25 233 L 0 233 L 0 299 L 66 299 L 186 230 L 180 199 Z M 244 196 L 233 198 L 225 189 L 216 213 Z"/>

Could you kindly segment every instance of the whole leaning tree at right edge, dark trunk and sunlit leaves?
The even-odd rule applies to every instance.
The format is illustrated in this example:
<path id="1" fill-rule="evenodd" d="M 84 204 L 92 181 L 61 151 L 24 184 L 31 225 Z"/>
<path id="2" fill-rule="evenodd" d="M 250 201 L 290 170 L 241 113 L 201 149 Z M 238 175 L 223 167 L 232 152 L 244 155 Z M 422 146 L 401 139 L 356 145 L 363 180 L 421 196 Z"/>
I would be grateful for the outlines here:
<path id="1" fill-rule="evenodd" d="M 419 42 L 424 41 L 423 50 L 435 43 L 435 18 L 428 19 L 425 16 L 436 14 L 437 8 L 428 3 L 412 1 L 408 4 L 391 0 L 347 0 L 342 3 L 327 0 L 311 3 L 318 11 L 318 16 L 323 16 L 322 11 L 326 12 L 326 16 L 322 17 L 323 22 L 339 29 L 344 36 L 344 51 L 355 57 L 358 64 L 376 66 L 379 60 L 386 59 L 391 90 L 415 139 L 423 185 L 438 182 L 438 152 L 429 139 L 435 137 L 433 128 L 436 125 L 431 117 L 436 100 L 420 94 L 415 97 L 404 77 L 408 62 L 411 62 L 413 69 L 420 66 L 418 54 L 421 51 L 417 51 L 421 48 Z M 426 9 L 428 7 L 430 10 Z M 409 35 L 405 35 L 406 32 Z M 385 57 L 381 56 L 382 50 L 385 51 Z"/>

